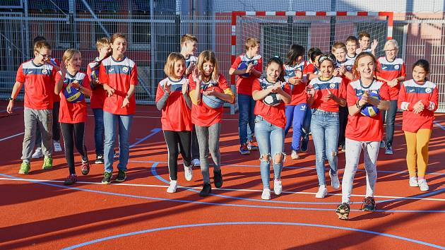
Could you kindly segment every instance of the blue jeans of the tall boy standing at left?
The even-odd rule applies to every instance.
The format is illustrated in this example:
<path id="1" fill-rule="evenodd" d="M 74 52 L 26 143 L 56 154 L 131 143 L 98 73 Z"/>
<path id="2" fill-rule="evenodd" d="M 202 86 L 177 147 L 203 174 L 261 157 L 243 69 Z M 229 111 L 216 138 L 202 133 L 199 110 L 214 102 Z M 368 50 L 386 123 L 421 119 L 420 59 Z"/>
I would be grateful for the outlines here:
<path id="1" fill-rule="evenodd" d="M 119 164 L 117 169 L 126 171 L 130 155 L 130 129 L 133 115 L 112 114 L 104 111 L 105 146 L 104 162 L 105 172 L 113 172 L 114 142 L 116 141 L 117 126 L 119 124 Z"/>

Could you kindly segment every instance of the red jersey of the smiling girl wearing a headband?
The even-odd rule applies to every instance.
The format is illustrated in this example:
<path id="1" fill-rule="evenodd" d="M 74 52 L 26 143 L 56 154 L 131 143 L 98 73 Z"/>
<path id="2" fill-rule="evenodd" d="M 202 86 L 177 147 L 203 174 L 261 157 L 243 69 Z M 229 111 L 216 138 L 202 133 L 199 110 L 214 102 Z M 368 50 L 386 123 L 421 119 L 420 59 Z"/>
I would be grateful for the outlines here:
<path id="1" fill-rule="evenodd" d="M 333 95 L 345 99 L 346 89 L 343 78 L 336 76 L 327 81 L 322 81 L 321 78 L 318 77 L 312 79 L 309 86 L 312 86 L 315 90 L 314 103 L 312 103 L 313 109 L 321 109 L 327 112 L 338 112 L 338 103 L 333 99 L 326 102 L 324 97 L 328 95 L 329 90 Z"/>

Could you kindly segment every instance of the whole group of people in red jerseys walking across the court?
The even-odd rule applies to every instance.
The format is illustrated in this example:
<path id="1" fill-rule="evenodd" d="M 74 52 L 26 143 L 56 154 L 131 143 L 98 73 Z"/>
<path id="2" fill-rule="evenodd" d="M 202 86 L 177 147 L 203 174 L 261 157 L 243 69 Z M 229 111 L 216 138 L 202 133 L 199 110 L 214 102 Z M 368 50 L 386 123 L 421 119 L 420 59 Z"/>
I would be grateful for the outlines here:
<path id="1" fill-rule="evenodd" d="M 203 176 L 200 196 L 208 196 L 211 193 L 209 153 L 214 166 L 213 184 L 217 188 L 223 186 L 219 146 L 223 103 L 235 103 L 235 95 L 220 71 L 214 52 L 206 50 L 194 56 L 197 42 L 194 35 L 186 34 L 181 40 L 181 53 L 168 56 L 164 67 L 167 77 L 158 84 L 155 102 L 162 112 L 162 131 L 168 150 L 170 186 L 167 192 L 177 190 L 177 160 L 181 153 L 185 179 L 190 181 L 192 167 L 200 166 Z M 261 198 L 271 198 L 271 162 L 273 191 L 279 195 L 283 190 L 280 175 L 286 157 L 284 141 L 292 126 L 292 159 L 299 159 L 299 150 L 307 151 L 309 132 L 312 133 L 319 179 L 316 198 L 324 198 L 328 193 L 325 160 L 328 160 L 331 186 L 340 189 L 338 150 L 345 152 L 342 203 L 336 211 L 340 219 L 348 219 L 352 182 L 364 151 L 367 191 L 362 208 L 375 210 L 377 156 L 381 146 L 386 148 L 386 154 L 393 153 L 397 109 L 403 110 L 409 185 L 420 186 L 422 191 L 429 189 L 425 180 L 428 143 L 438 103 L 437 85 L 427 80 L 429 63 L 423 59 L 415 62 L 413 79 L 405 81 L 405 64 L 396 56 L 396 40 L 386 42 L 385 56 L 378 59 L 374 56 L 376 45 L 376 40 L 370 44 L 368 33 L 361 32 L 358 39 L 348 37 L 345 43 L 333 44 L 330 53 L 309 49 L 308 60 L 304 61 L 304 47 L 292 44 L 285 62 L 279 56 L 267 60 L 261 78 L 260 42 L 254 37 L 246 40 L 246 52 L 237 56 L 229 74 L 237 76 L 239 153 L 259 150 Z M 52 167 L 54 93 L 60 97 L 59 122 L 69 166 L 65 184 L 77 181 L 73 145 L 82 156 L 82 174 L 88 174 L 90 166 L 83 143 L 87 106 L 85 100 L 67 101 L 63 93 L 66 88 L 75 88 L 91 98 L 96 163 L 105 163 L 102 183 L 112 182 L 113 148 L 118 134 L 119 164 L 114 180 L 126 179 L 129 133 L 136 107 L 134 91 L 138 84 L 136 64 L 124 54 L 126 46 L 125 36 L 119 33 L 109 41 L 99 40 L 99 56 L 88 64 L 87 73 L 83 73 L 78 50 L 66 50 L 61 64 L 56 64 L 51 61 L 49 44 L 35 43 L 35 58 L 20 65 L 7 108 L 11 113 L 14 100 L 25 84 L 25 136 L 19 174 L 30 171 L 37 124 L 45 155 L 42 168 Z M 385 116 L 386 141 L 383 141 Z M 254 136 L 258 145 L 254 143 Z"/>

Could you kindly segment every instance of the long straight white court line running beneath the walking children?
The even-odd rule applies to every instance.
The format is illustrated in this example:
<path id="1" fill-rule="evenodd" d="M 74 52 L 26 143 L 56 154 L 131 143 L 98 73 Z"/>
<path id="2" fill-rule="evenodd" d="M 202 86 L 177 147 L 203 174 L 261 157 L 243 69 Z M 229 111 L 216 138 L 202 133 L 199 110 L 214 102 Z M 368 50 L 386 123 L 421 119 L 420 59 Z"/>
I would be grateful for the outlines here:
<path id="1" fill-rule="evenodd" d="M 0 178 L 0 180 L 5 181 L 40 181 L 40 182 L 56 182 L 56 183 L 64 183 L 64 181 L 53 181 L 53 180 L 47 180 L 47 179 L 16 179 L 16 178 Z M 78 184 L 97 184 L 97 185 L 104 185 L 101 182 L 89 182 L 89 181 L 77 181 Z M 112 183 L 109 185 L 114 186 L 144 186 L 144 187 L 156 187 L 156 188 L 167 188 L 167 185 L 148 185 L 148 184 L 128 184 L 128 183 Z M 198 187 L 191 187 L 191 186 L 178 186 L 180 189 L 197 189 L 201 190 L 201 186 Z M 263 190 L 256 190 L 256 189 L 218 189 L 213 188 L 215 190 L 223 190 L 223 191 L 245 191 L 245 192 L 262 192 Z M 314 195 L 316 193 L 312 192 L 290 192 L 290 191 L 283 191 L 285 194 L 310 194 Z M 341 196 L 341 194 L 329 194 L 331 196 Z M 360 194 L 351 194 L 351 196 L 357 196 L 357 197 L 364 197 L 364 195 Z M 405 199 L 405 200 L 424 200 L 424 201 L 445 201 L 445 198 L 416 198 L 416 197 L 400 197 L 400 196 L 374 196 L 374 198 L 394 198 L 394 199 Z"/>

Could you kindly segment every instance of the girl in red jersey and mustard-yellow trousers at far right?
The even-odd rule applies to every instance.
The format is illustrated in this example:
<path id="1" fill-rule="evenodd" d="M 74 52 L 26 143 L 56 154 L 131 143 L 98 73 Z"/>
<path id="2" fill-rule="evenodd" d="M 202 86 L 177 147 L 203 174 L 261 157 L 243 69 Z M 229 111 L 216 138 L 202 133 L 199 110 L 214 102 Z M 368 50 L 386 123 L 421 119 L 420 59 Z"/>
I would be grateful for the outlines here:
<path id="1" fill-rule="evenodd" d="M 425 179 L 428 165 L 428 144 L 437 109 L 437 85 L 427 80 L 429 62 L 424 59 L 413 65 L 413 79 L 402 83 L 398 108 L 403 110 L 402 130 L 406 138 L 406 164 L 410 172 L 410 186 L 428 191 Z M 418 179 L 417 179 L 418 178 Z"/>

